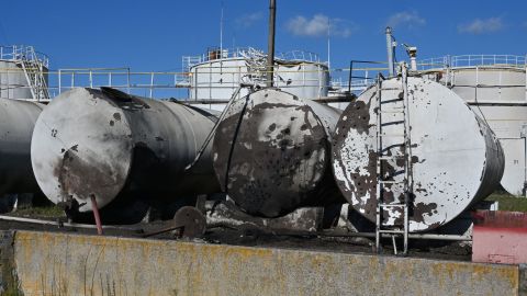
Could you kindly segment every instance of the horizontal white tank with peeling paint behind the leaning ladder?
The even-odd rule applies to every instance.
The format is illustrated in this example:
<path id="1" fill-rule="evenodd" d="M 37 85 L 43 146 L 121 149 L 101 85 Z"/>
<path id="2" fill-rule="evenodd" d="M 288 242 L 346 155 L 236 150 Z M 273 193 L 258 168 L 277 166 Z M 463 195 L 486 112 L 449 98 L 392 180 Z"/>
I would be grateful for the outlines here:
<path id="1" fill-rule="evenodd" d="M 411 135 L 410 230 L 426 231 L 451 221 L 471 204 L 487 196 L 503 174 L 504 156 L 484 121 L 456 93 L 444 86 L 410 77 Z M 350 205 L 371 221 L 377 210 L 375 86 L 344 111 L 335 132 L 333 169 L 336 182 Z M 404 201 L 404 115 L 401 112 L 401 78 L 382 82 L 382 160 L 386 183 L 384 203 Z M 397 136 L 399 135 L 399 136 Z M 385 225 L 399 225 L 401 208 L 386 207 Z"/>

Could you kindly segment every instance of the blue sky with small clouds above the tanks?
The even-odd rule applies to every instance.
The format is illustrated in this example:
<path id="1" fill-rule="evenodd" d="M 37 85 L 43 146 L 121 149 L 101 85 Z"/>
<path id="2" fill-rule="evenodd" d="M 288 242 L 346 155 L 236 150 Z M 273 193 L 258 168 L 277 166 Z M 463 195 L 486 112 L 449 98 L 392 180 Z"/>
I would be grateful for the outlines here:
<path id="1" fill-rule="evenodd" d="M 4 1 L 0 44 L 29 44 L 52 69 L 132 67 L 180 70 L 182 55 L 220 45 L 267 48 L 268 0 Z M 422 58 L 446 54 L 527 54 L 527 1 L 278 0 L 277 50 L 305 49 L 332 66 L 385 59 L 384 27 Z M 22 20 L 24 18 L 24 20 Z M 400 59 L 403 52 L 399 53 Z"/>

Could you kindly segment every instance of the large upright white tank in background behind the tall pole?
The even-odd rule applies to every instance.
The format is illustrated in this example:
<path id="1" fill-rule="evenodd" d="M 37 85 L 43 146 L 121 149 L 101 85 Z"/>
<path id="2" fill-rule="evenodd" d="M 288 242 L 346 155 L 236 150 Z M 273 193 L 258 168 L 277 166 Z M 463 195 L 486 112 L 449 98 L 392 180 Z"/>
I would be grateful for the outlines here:
<path id="1" fill-rule="evenodd" d="M 189 101 L 225 101 L 232 98 L 242 82 L 265 81 L 266 55 L 253 48 L 209 50 L 194 60 L 199 62 L 189 65 L 188 69 Z M 303 99 L 327 96 L 329 71 L 315 54 L 292 52 L 278 55 L 274 72 L 274 86 L 291 94 Z M 238 98 L 247 94 L 247 90 L 243 89 Z M 210 107 L 223 110 L 224 104 L 211 104 Z"/>

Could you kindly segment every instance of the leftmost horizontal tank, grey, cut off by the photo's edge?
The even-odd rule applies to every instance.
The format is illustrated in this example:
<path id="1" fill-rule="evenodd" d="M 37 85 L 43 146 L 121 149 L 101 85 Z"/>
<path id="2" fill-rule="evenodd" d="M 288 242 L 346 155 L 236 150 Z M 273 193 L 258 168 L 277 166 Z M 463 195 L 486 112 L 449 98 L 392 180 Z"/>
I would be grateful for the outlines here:
<path id="1" fill-rule="evenodd" d="M 31 167 L 31 135 L 42 104 L 0 99 L 0 196 L 38 191 Z"/>

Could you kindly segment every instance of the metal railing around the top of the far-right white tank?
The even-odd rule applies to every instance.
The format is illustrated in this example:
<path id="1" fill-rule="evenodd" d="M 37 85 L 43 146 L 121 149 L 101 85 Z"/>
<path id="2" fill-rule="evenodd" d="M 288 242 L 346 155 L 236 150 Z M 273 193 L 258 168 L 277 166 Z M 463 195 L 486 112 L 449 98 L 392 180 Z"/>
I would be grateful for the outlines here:
<path id="1" fill-rule="evenodd" d="M 525 68 L 526 56 L 515 55 L 461 55 L 461 56 L 444 56 L 419 60 L 418 70 L 430 70 L 438 68 L 459 68 L 475 66 L 504 66 Z"/>

